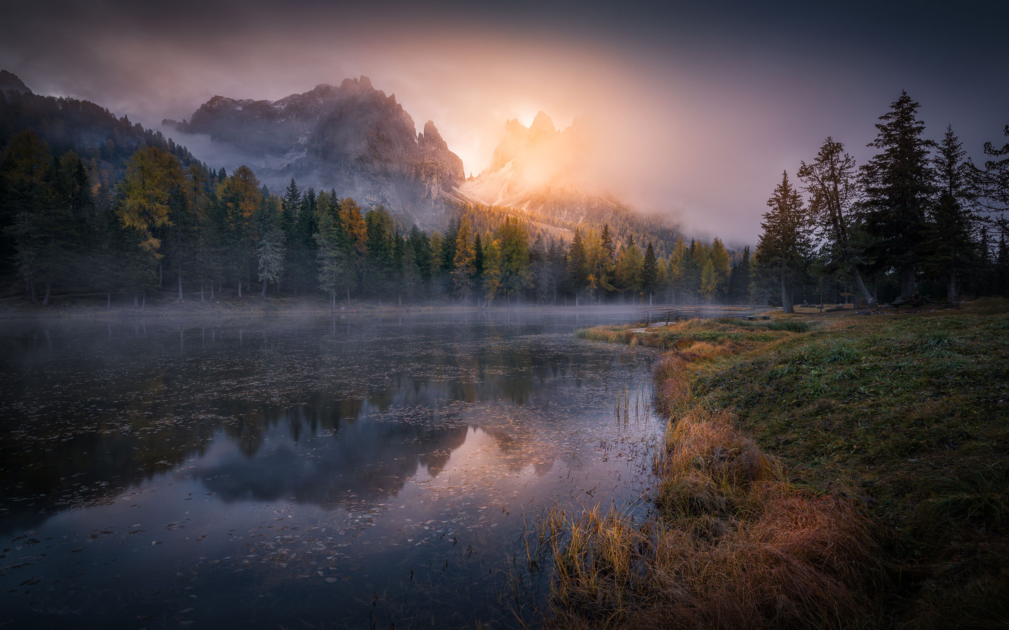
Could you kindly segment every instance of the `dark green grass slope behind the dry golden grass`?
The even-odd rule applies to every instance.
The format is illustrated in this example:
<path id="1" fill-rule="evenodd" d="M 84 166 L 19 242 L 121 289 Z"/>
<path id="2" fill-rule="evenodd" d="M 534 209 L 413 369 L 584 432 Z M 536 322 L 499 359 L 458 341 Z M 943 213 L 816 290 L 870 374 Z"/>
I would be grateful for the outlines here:
<path id="1" fill-rule="evenodd" d="M 986 300 L 821 327 L 627 327 L 606 341 L 675 348 L 690 338 L 741 351 L 698 364 L 690 391 L 705 408 L 734 411 L 796 487 L 856 499 L 882 549 L 872 625 L 1009 627 L 1005 311 L 1005 300 Z"/>

